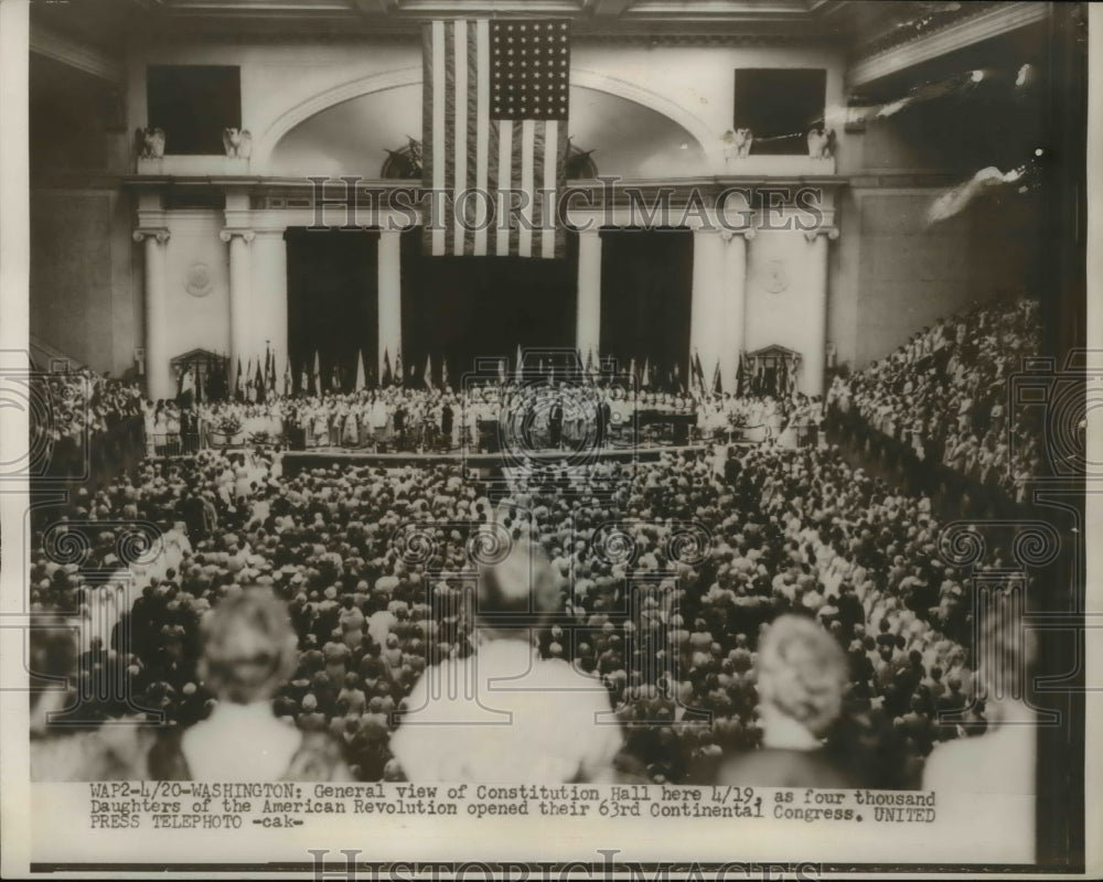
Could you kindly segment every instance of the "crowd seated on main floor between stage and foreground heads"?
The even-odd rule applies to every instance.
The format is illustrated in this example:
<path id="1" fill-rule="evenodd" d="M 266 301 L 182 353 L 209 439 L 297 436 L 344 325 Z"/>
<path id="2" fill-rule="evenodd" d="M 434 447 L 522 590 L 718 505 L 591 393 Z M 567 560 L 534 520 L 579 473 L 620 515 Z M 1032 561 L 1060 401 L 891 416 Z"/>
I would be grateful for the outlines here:
<path id="1" fill-rule="evenodd" d="M 838 713 L 815 739 L 848 779 L 918 786 L 934 744 L 984 728 L 965 648 L 971 580 L 940 561 L 928 499 L 823 449 L 760 447 L 722 472 L 703 449 L 597 467 L 611 494 L 522 475 L 491 501 L 446 464 L 288 476 L 260 450 L 147 462 L 65 513 L 63 529 L 90 533 L 83 560 L 39 546 L 33 611 L 76 610 L 85 633 L 101 623 L 57 700 L 82 697 L 75 713 L 93 720 L 133 712 L 121 696 L 96 698 L 116 676 L 171 724 L 213 719 L 227 699 L 201 664 L 201 623 L 260 585 L 287 604 L 297 647 L 276 717 L 330 733 L 357 778 L 417 776 L 392 750 L 396 711 L 427 669 L 475 652 L 465 582 L 439 573 L 471 571 L 469 530 L 494 525 L 547 557 L 557 619 L 537 635 L 539 655 L 601 684 L 624 723 L 617 765 L 639 779 L 708 779 L 761 745 L 760 639 L 791 613 L 846 656 Z M 121 566 L 118 527 L 96 521 L 128 517 L 176 526 L 158 555 L 90 579 Z M 411 526 L 420 541 L 399 540 Z M 101 610 L 124 591 L 116 582 L 136 593 L 110 627 Z M 962 720 L 939 716 L 954 710 Z"/>

